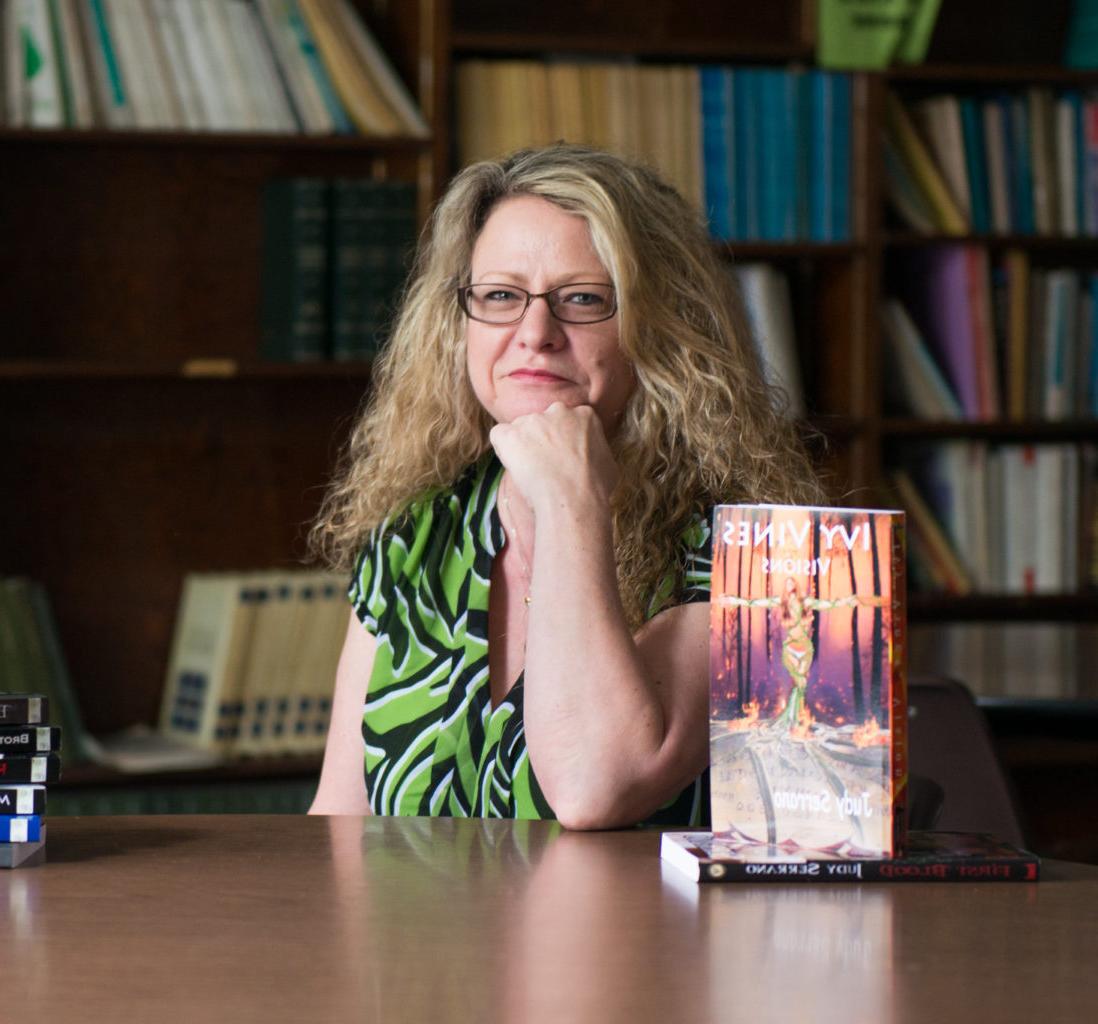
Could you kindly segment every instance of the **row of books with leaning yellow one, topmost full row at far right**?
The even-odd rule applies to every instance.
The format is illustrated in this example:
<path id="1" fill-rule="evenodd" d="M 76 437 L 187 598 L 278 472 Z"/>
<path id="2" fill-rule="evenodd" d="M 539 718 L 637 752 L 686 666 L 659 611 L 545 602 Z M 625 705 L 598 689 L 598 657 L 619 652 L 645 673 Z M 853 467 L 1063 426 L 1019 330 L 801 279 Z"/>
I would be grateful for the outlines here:
<path id="1" fill-rule="evenodd" d="M 1098 235 L 1098 95 L 1030 86 L 886 102 L 885 182 L 908 227 Z"/>

